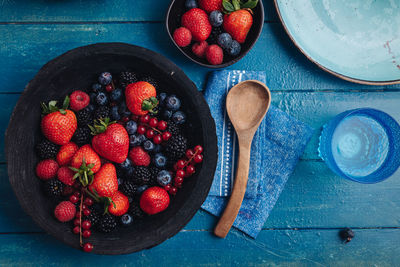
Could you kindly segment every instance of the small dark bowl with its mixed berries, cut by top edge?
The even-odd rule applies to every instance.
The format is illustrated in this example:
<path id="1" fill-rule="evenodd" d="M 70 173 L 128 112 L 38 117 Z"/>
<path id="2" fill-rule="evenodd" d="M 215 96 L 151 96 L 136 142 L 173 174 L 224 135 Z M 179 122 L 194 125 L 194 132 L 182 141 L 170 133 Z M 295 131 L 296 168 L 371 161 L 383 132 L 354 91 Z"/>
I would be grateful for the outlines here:
<path id="1" fill-rule="evenodd" d="M 261 0 L 173 0 L 166 19 L 175 46 L 209 68 L 238 62 L 256 43 L 263 24 Z"/>

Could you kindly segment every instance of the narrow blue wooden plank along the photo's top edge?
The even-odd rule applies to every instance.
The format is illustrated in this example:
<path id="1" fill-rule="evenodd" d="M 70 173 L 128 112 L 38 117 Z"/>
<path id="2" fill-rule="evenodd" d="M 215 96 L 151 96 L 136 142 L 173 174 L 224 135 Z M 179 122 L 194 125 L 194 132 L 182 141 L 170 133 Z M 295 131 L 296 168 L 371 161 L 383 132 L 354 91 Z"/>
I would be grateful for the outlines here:
<path id="1" fill-rule="evenodd" d="M 171 1 L 99 2 L 12 0 L 0 2 L 0 22 L 164 21 Z M 264 0 L 265 19 L 278 21 L 273 0 Z"/>

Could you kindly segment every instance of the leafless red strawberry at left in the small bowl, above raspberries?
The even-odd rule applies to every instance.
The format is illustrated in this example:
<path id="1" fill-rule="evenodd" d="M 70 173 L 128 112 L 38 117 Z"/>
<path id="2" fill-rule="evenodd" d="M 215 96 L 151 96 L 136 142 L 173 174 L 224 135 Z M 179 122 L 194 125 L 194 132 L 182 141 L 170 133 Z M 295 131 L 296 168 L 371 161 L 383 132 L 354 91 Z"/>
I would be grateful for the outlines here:
<path id="1" fill-rule="evenodd" d="M 182 26 L 192 33 L 193 40 L 205 41 L 211 33 L 212 26 L 207 13 L 200 8 L 192 8 L 182 16 Z"/>

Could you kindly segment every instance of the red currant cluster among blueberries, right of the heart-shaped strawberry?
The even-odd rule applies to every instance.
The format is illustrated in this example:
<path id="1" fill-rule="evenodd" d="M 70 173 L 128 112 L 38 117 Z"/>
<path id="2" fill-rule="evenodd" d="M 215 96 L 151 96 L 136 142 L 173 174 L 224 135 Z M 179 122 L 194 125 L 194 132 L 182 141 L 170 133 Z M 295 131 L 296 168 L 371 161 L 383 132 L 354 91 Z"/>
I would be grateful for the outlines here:
<path id="1" fill-rule="evenodd" d="M 137 119 L 138 134 L 144 134 L 148 139 L 153 139 L 154 144 L 161 144 L 171 138 L 171 133 L 166 131 L 168 124 L 166 121 L 159 121 L 149 115 L 141 116 Z"/>

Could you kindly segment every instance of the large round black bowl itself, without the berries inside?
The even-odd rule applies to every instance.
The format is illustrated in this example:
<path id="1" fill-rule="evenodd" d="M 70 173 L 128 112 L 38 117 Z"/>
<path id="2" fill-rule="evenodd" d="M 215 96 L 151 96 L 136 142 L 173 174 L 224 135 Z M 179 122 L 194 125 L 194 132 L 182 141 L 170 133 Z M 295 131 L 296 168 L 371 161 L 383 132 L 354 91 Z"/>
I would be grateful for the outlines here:
<path id="1" fill-rule="evenodd" d="M 160 244 L 178 233 L 205 200 L 217 163 L 217 137 L 209 107 L 193 82 L 170 60 L 142 47 L 123 43 L 79 47 L 47 63 L 27 85 L 14 108 L 5 138 L 10 183 L 23 209 L 48 233 L 79 248 L 78 236 L 72 233 L 70 224 L 54 218 L 56 203 L 41 193 L 41 181 L 35 177 L 39 103 L 88 88 L 103 71 L 124 70 L 149 73 L 164 91 L 181 97 L 193 124 L 191 142 L 203 145 L 204 161 L 196 174 L 185 180 L 164 212 L 110 234 L 93 234 L 88 241 L 94 244 L 93 252 L 97 254 L 132 253 Z"/>

